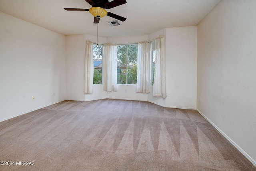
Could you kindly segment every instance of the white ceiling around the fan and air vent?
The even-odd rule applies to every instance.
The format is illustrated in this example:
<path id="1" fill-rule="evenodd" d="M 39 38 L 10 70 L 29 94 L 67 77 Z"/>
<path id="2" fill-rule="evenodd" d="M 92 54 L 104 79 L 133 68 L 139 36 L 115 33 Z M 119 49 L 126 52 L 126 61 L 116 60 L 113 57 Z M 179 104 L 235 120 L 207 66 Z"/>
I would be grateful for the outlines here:
<path id="1" fill-rule="evenodd" d="M 110 0 L 112 1 L 112 0 Z M 109 1 L 109 2 L 110 2 Z M 111 27 L 109 16 L 100 18 L 98 36 L 147 35 L 163 28 L 196 26 L 221 0 L 126 0 L 127 4 L 107 10 L 127 18 L 122 26 Z M 94 16 L 85 0 L 0 0 L 0 11 L 64 35 L 97 35 Z"/>

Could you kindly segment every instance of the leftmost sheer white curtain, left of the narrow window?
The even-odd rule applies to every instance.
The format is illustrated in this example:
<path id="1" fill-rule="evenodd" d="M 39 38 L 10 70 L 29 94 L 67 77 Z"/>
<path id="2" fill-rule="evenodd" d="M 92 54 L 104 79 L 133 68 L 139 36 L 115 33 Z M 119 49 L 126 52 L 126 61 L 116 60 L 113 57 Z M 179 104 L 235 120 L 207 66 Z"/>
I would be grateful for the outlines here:
<path id="1" fill-rule="evenodd" d="M 85 47 L 84 93 L 92 93 L 93 86 L 93 42 L 87 41 Z"/>

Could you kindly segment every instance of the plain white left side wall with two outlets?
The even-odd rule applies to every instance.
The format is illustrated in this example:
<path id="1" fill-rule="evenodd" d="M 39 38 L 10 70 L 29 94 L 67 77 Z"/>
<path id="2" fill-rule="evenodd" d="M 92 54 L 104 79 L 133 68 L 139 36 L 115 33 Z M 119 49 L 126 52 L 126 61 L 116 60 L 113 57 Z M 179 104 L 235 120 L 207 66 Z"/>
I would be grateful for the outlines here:
<path id="1" fill-rule="evenodd" d="M 0 21 L 0 121 L 66 99 L 66 37 L 2 12 Z"/>

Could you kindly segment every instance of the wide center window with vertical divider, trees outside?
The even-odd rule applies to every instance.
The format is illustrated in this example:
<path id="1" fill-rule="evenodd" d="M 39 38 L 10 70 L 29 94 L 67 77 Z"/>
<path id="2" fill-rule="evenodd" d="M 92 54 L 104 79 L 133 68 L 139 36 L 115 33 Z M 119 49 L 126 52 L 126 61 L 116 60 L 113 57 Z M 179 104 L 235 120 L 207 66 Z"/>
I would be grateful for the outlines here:
<path id="1" fill-rule="evenodd" d="M 138 45 L 117 46 L 117 84 L 137 83 Z"/>

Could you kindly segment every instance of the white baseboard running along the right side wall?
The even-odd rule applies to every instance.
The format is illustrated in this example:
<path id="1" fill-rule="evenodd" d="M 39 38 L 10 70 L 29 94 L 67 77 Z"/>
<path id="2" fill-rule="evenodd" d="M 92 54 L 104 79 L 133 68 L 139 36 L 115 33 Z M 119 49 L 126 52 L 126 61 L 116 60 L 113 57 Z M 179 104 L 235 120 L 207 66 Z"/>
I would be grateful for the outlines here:
<path id="1" fill-rule="evenodd" d="M 236 147 L 253 165 L 256 166 L 256 161 L 252 159 L 243 149 L 241 149 L 228 135 L 226 135 L 220 128 L 218 128 L 208 117 L 206 117 L 200 110 L 196 109 L 212 126 L 214 126 L 234 147 Z"/>

